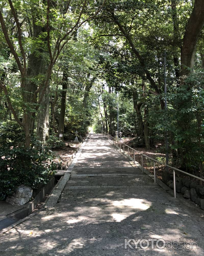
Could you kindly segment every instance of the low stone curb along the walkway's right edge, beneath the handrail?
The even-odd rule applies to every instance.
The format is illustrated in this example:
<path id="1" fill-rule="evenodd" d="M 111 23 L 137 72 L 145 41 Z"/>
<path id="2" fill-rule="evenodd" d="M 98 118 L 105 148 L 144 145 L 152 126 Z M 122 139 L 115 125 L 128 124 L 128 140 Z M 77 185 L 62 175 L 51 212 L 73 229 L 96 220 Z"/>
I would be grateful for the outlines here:
<path id="1" fill-rule="evenodd" d="M 110 142 L 109 142 L 109 143 L 110 143 Z M 119 147 L 115 146 L 115 145 L 112 144 L 112 143 L 110 143 L 110 144 L 116 148 L 116 151 L 118 151 L 118 152 L 121 153 L 122 155 L 125 155 L 125 156 L 128 158 L 128 155 L 127 155 L 126 153 L 123 154 L 122 148 L 121 148 L 121 151 L 120 151 L 120 148 L 119 148 Z M 135 161 L 135 165 L 134 165 L 134 159 L 133 159 L 131 156 L 129 156 L 128 159 L 132 161 L 133 164 L 131 163 L 131 165 L 132 165 L 133 167 L 138 167 L 138 168 L 141 169 L 141 171 L 142 171 L 142 165 L 141 165 L 141 164 L 139 164 L 138 162 Z M 147 174 L 151 179 L 154 180 L 154 175 L 153 175 L 152 173 L 150 173 L 148 170 L 146 170 L 144 167 L 143 167 L 143 172 L 144 172 L 145 174 Z M 193 207 L 194 209 L 196 208 L 197 210 L 200 210 L 200 207 L 199 207 L 199 208 L 196 207 L 195 204 L 194 204 L 192 201 L 189 202 L 189 201 L 187 201 L 187 200 L 184 200 L 183 196 L 181 196 L 181 195 L 178 194 L 178 193 L 176 193 L 176 198 L 174 198 L 174 193 L 173 193 L 172 189 L 171 189 L 170 187 L 168 187 L 166 184 L 164 184 L 164 183 L 163 183 L 160 179 L 158 179 L 157 177 L 156 177 L 156 183 L 157 183 L 161 188 L 163 188 L 168 194 L 170 194 L 170 195 L 172 196 L 172 200 L 178 200 L 178 201 L 180 201 L 182 204 L 184 204 L 184 205 L 187 206 L 187 207 Z"/>

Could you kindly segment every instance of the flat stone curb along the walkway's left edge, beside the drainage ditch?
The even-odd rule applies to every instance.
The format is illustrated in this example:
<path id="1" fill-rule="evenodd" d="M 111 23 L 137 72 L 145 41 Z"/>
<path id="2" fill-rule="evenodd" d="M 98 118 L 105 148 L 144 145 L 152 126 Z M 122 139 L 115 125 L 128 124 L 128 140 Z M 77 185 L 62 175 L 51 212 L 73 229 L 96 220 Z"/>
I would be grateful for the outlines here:
<path id="1" fill-rule="evenodd" d="M 60 197 L 67 181 L 69 180 L 69 178 L 71 176 L 74 165 L 77 163 L 78 157 L 81 154 L 81 152 L 83 150 L 83 147 L 84 147 L 84 145 L 86 144 L 86 142 L 88 140 L 88 137 L 89 137 L 89 135 L 87 135 L 84 142 L 80 144 L 80 147 L 77 148 L 77 150 L 76 150 L 77 153 L 76 153 L 76 151 L 73 153 L 73 156 L 74 156 L 74 158 L 72 158 L 72 159 L 74 159 L 73 162 L 71 162 L 70 165 L 68 165 L 68 162 L 67 162 L 67 164 L 66 164 L 67 168 L 66 169 L 68 171 L 64 173 L 64 175 L 58 181 L 57 185 L 54 187 L 54 189 L 52 191 L 52 194 L 50 195 L 49 199 L 47 200 L 47 202 L 45 204 L 45 208 L 52 208 L 57 204 L 57 202 L 59 200 L 59 197 Z M 71 172 L 70 172 L 70 170 L 71 170 Z"/>

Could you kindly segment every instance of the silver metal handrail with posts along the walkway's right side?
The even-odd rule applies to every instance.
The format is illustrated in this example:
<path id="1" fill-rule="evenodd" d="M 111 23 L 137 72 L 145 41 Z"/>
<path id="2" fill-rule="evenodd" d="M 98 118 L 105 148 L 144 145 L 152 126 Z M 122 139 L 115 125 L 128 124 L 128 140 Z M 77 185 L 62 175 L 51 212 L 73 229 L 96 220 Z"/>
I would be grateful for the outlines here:
<path id="1" fill-rule="evenodd" d="M 134 161 L 133 161 L 134 164 L 135 164 L 135 152 L 137 152 L 138 154 L 142 155 L 142 172 L 143 172 L 143 156 L 145 156 L 145 157 L 151 159 L 152 161 L 154 161 L 154 182 L 155 182 L 155 183 L 156 183 L 156 169 L 155 169 L 155 163 L 159 163 L 159 164 L 161 164 L 161 165 L 164 165 L 164 166 L 166 166 L 166 167 L 168 167 L 168 168 L 173 169 L 174 198 L 176 198 L 176 177 L 175 177 L 175 171 L 184 173 L 184 174 L 186 174 L 186 175 L 188 175 L 188 176 L 190 176 L 190 177 L 199 179 L 199 180 L 201 180 L 202 182 L 204 182 L 204 179 L 202 179 L 202 178 L 200 178 L 200 177 L 198 177 L 198 176 L 195 176 L 195 175 L 193 175 L 193 174 L 184 172 L 184 171 L 182 171 L 182 170 L 180 170 L 180 169 L 177 169 L 177 168 L 175 168 L 175 167 L 173 167 L 173 166 L 170 166 L 170 165 L 168 165 L 168 164 L 163 164 L 163 163 L 161 163 L 161 162 L 159 162 L 159 161 L 157 161 L 157 160 L 155 160 L 155 159 L 153 159 L 153 158 L 151 158 L 151 157 L 149 157 L 149 156 L 147 156 L 147 155 L 145 155 L 145 154 L 143 154 L 143 153 L 140 153 L 140 152 L 136 151 L 134 148 L 132 148 L 132 147 L 128 146 L 127 144 L 125 144 L 125 143 L 119 141 L 118 138 L 116 139 L 116 138 L 114 138 L 113 136 L 111 136 L 110 134 L 108 134 L 108 133 L 106 133 L 106 132 L 104 132 L 104 131 L 103 131 L 103 135 L 105 135 L 106 138 L 109 138 L 109 140 L 110 140 L 111 142 L 113 141 L 113 144 L 114 144 L 114 140 L 117 141 L 117 145 L 118 145 L 118 143 L 120 142 L 120 151 L 121 151 L 121 144 L 123 144 L 123 154 L 125 154 L 124 147 L 126 146 L 127 149 L 128 149 L 128 154 L 127 154 L 127 157 L 128 157 L 128 158 L 129 158 L 129 148 L 132 149 L 132 150 L 134 151 L 134 152 L 133 152 L 133 153 L 134 153 L 134 159 L 133 159 L 133 160 L 134 160 Z M 116 146 L 116 143 L 115 143 L 115 146 Z M 118 146 L 117 146 L 117 147 L 118 147 Z"/>

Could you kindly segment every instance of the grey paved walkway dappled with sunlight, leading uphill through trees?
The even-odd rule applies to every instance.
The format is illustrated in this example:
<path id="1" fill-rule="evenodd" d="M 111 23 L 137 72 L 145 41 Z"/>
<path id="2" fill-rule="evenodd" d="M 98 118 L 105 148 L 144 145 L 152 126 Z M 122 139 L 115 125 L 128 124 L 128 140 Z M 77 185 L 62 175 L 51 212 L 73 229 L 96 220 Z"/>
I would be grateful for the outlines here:
<path id="1" fill-rule="evenodd" d="M 202 214 L 174 199 L 103 136 L 93 134 L 59 203 L 3 234 L 0 255 L 204 255 Z M 197 239 L 198 249 L 158 249 L 156 244 L 151 249 L 151 241 L 147 249 L 130 249 L 134 240 L 124 249 L 124 239 L 183 238 Z"/>

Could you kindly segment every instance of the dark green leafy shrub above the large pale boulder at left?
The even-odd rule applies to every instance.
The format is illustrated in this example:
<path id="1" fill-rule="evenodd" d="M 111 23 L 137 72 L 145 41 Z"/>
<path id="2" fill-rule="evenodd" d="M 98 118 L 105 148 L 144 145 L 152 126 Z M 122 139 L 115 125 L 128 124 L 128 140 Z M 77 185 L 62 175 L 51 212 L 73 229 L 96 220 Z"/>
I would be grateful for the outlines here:
<path id="1" fill-rule="evenodd" d="M 39 184 L 46 184 L 52 170 L 57 168 L 49 147 L 32 138 L 34 146 L 24 148 L 19 145 L 23 145 L 23 138 L 18 125 L 9 122 L 0 126 L 0 200 L 11 195 L 19 185 L 35 189 Z"/>

